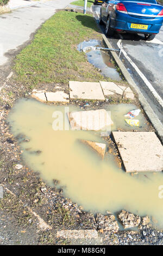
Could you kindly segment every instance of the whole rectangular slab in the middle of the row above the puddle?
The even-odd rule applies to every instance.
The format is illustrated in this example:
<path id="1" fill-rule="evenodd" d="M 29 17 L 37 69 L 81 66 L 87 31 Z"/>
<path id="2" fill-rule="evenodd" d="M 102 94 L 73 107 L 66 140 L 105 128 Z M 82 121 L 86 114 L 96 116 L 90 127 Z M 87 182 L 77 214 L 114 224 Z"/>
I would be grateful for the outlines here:
<path id="1" fill-rule="evenodd" d="M 105 100 L 100 83 L 69 81 L 70 99 Z"/>

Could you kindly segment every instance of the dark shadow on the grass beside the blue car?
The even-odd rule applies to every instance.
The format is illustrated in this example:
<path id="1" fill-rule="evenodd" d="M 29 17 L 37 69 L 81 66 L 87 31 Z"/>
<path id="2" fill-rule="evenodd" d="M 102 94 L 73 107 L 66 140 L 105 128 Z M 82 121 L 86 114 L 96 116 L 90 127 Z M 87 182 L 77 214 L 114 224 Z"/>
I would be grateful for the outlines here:
<path id="1" fill-rule="evenodd" d="M 77 15 L 76 19 L 80 21 L 84 27 L 91 28 L 96 32 L 99 32 L 94 17 L 88 15 Z"/>

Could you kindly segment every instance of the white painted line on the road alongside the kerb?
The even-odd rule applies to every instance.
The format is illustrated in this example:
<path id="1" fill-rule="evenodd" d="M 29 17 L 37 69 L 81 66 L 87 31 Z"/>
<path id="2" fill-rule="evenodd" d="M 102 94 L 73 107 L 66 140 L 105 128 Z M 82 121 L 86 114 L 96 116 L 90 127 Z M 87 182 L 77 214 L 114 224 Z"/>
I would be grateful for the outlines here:
<path id="1" fill-rule="evenodd" d="M 121 47 L 121 42 L 122 40 L 118 40 L 117 46 L 120 48 Z M 122 48 L 122 52 L 124 56 L 127 58 L 128 62 L 133 66 L 133 68 L 136 70 L 137 74 L 142 78 L 142 80 L 146 83 L 146 86 L 148 89 L 151 91 L 151 93 L 154 95 L 155 99 L 159 102 L 160 106 L 163 107 L 163 100 L 161 99 L 160 95 L 156 92 L 156 90 L 153 88 L 152 84 L 147 80 L 145 75 L 142 74 L 140 69 L 135 65 L 133 60 L 130 59 L 130 57 L 127 55 L 126 51 Z"/>

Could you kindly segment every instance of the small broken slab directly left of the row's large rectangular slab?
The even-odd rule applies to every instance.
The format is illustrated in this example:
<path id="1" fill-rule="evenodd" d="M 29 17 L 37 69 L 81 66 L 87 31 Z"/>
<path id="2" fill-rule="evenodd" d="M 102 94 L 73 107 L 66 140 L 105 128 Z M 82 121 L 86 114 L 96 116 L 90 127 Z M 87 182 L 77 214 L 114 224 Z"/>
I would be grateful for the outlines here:
<path id="1" fill-rule="evenodd" d="M 46 92 L 46 97 L 48 102 L 62 102 L 62 103 L 70 103 L 69 95 L 62 92 Z"/>

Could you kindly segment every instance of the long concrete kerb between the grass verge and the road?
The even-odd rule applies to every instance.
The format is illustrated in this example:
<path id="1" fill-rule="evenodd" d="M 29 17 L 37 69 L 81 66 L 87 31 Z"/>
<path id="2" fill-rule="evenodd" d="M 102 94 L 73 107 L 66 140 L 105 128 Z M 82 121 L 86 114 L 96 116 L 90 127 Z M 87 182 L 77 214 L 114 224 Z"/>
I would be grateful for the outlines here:
<path id="1" fill-rule="evenodd" d="M 108 48 L 112 48 L 112 45 L 110 44 L 110 42 L 106 38 L 106 36 L 104 34 L 102 34 L 102 36 L 103 36 L 103 40 L 104 40 L 106 46 L 108 46 Z M 118 58 L 117 53 L 112 52 L 112 51 L 110 51 L 110 52 L 112 54 L 112 57 L 115 59 L 115 62 L 121 69 L 123 76 L 126 78 L 127 82 L 130 84 L 131 89 L 133 89 L 133 91 L 138 95 L 140 105 L 142 106 L 143 110 L 145 111 L 149 121 L 151 121 L 151 123 L 156 131 L 156 134 L 158 135 L 161 143 L 163 144 L 163 126 L 161 124 L 161 121 L 155 115 L 153 109 L 147 102 L 145 96 L 142 95 L 139 87 L 137 87 L 136 83 L 134 82 L 133 78 L 130 76 L 130 74 L 129 74 L 128 70 L 125 68 L 124 64 L 121 62 L 120 58 Z"/>

